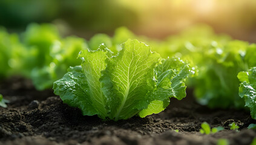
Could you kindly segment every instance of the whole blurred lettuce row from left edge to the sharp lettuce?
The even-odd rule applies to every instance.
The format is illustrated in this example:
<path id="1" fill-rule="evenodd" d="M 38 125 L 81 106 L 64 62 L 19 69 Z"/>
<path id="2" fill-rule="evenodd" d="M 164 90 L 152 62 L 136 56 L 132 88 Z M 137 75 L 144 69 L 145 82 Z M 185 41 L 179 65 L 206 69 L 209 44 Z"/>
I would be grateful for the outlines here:
<path id="1" fill-rule="evenodd" d="M 69 66 L 80 64 L 76 57 L 85 48 L 84 39 L 61 38 L 50 24 L 31 24 L 20 36 L 0 30 L 0 77 L 21 75 L 39 90 L 51 88 Z"/>

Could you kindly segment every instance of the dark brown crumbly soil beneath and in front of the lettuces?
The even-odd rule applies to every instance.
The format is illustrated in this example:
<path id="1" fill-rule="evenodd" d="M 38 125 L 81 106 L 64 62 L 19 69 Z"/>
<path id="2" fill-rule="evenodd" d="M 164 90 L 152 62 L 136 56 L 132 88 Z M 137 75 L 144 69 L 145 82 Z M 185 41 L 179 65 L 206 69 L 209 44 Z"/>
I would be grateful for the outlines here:
<path id="1" fill-rule="evenodd" d="M 2 81 L 0 93 L 10 100 L 8 108 L 0 108 L 0 144 L 217 144 L 220 138 L 250 144 L 256 137 L 255 130 L 247 129 L 256 123 L 248 111 L 208 109 L 194 101 L 191 91 L 182 101 L 171 99 L 160 114 L 117 122 L 83 116 L 53 91 L 36 91 L 20 78 Z M 203 121 L 225 130 L 200 134 Z M 240 126 L 238 131 L 229 130 L 232 122 Z"/>

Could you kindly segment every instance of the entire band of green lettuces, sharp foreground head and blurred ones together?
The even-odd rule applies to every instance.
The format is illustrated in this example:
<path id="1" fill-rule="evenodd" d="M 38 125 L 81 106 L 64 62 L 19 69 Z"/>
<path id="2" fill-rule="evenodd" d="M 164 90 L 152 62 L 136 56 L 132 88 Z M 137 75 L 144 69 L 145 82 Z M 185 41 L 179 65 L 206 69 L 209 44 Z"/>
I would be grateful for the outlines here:
<path id="1" fill-rule="evenodd" d="M 151 53 L 148 45 L 161 57 Z M 170 58 L 180 58 L 186 63 Z M 33 80 L 39 90 L 51 88 L 57 80 L 55 93 L 87 115 L 119 120 L 134 114 L 144 117 L 160 112 L 168 105 L 169 97 L 185 97 L 184 83 L 187 83 L 194 88 L 194 95 L 202 105 L 210 108 L 246 105 L 256 119 L 253 77 L 256 45 L 215 34 L 205 25 L 164 40 L 137 36 L 124 27 L 117 28 L 112 37 L 96 34 L 88 41 L 74 36 L 62 38 L 49 24 L 31 24 L 20 35 L 8 34 L 2 28 L 0 60 L 0 77 L 19 74 Z M 184 75 L 194 72 L 194 77 L 186 82 L 181 76 L 182 79 L 175 80 L 185 70 L 184 66 L 191 68 Z M 140 75 L 139 68 L 145 73 Z M 180 92 L 175 94 L 178 88 Z M 127 114 L 123 108 L 128 110 Z"/>

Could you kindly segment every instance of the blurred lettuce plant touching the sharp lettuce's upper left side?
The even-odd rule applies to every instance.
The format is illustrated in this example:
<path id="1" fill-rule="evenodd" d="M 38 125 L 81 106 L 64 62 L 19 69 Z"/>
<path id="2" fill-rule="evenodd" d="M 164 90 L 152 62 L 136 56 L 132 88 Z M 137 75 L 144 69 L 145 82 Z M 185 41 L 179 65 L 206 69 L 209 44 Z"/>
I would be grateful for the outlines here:
<path id="1" fill-rule="evenodd" d="M 82 61 L 77 59 L 80 50 L 86 48 L 85 40 L 79 37 L 67 37 L 51 45 L 48 54 L 50 61 L 42 67 L 35 67 L 31 71 L 31 79 L 38 90 L 51 88 L 53 82 L 61 79 L 69 66 L 79 65 Z"/>

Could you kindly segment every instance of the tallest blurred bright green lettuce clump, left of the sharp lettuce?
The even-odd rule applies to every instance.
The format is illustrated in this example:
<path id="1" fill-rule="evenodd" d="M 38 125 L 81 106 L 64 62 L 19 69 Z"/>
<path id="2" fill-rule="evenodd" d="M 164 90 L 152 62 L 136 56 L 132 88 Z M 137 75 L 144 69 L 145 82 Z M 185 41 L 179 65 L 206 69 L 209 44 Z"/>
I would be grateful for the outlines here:
<path id="1" fill-rule="evenodd" d="M 27 30 L 22 34 L 22 42 L 28 52 L 31 52 L 31 58 L 28 56 L 27 67 L 43 67 L 45 63 L 51 61 L 51 46 L 56 40 L 61 39 L 57 28 L 51 24 L 30 24 Z M 31 60 L 33 59 L 33 61 Z"/>

